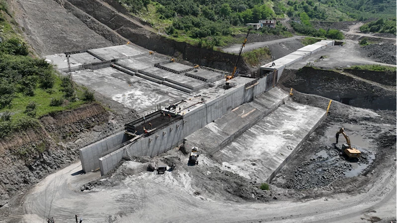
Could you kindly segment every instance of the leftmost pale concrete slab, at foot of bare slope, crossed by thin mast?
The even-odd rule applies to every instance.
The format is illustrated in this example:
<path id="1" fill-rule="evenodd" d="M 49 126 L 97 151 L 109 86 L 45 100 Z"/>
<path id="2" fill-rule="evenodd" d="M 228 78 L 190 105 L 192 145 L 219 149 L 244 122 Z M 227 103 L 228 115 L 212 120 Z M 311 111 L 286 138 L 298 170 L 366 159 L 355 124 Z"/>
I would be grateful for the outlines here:
<path id="1" fill-rule="evenodd" d="M 54 54 L 46 56 L 46 60 L 50 60 L 51 63 L 58 67 L 59 70 L 67 70 L 68 69 L 68 61 L 66 59 L 65 54 Z M 72 69 L 77 69 L 80 65 L 83 64 L 91 64 L 100 62 L 98 58 L 92 56 L 91 54 L 84 52 L 84 53 L 77 53 L 70 55 L 70 65 Z"/>

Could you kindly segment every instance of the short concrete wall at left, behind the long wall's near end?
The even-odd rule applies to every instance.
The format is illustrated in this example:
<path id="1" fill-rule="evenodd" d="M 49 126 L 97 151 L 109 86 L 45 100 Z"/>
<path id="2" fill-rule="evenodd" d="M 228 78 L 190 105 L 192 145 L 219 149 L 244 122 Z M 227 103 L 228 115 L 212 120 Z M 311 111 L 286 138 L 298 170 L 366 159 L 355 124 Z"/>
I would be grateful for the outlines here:
<path id="1" fill-rule="evenodd" d="M 89 172 L 99 168 L 98 159 L 109 152 L 119 149 L 120 145 L 127 141 L 124 131 L 106 137 L 96 143 L 79 149 L 82 170 Z"/>

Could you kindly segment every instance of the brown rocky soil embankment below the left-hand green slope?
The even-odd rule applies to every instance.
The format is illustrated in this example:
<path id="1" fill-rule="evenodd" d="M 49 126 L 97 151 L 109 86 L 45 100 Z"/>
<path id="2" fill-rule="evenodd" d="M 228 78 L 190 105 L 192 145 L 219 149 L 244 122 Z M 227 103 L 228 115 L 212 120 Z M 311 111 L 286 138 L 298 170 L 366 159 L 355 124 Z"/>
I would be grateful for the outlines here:
<path id="1" fill-rule="evenodd" d="M 128 116 L 128 117 L 125 117 Z M 21 192 L 79 158 L 78 149 L 136 118 L 114 115 L 93 103 L 40 118 L 40 127 L 0 140 L 0 215 L 17 205 Z M 8 205 L 7 205 L 8 203 Z"/>

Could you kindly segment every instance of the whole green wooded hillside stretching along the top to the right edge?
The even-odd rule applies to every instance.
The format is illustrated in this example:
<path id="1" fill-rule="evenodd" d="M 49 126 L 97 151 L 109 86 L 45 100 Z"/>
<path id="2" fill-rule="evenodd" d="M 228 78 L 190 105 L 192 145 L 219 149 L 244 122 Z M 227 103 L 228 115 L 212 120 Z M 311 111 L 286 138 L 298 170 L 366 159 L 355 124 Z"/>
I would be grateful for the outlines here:
<path id="1" fill-rule="evenodd" d="M 157 32 L 177 41 L 213 48 L 241 42 L 245 23 L 260 19 L 301 17 L 309 21 L 352 21 L 394 17 L 392 0 L 118 0 L 130 13 Z M 309 24 L 307 24 L 310 26 Z M 302 30 L 302 28 L 301 28 Z M 300 32 L 312 35 L 311 32 Z M 277 22 L 276 28 L 253 33 L 291 36 Z M 326 34 L 313 36 L 327 37 Z"/>

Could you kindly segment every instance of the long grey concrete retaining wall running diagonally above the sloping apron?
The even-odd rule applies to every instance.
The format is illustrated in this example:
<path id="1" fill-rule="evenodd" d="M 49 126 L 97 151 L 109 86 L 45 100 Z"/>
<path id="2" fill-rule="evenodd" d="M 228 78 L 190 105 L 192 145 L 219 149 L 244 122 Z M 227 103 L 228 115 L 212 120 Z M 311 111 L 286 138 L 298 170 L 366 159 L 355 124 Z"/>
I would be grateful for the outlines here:
<path id="1" fill-rule="evenodd" d="M 141 138 L 134 143 L 101 157 L 99 159 L 101 175 L 106 174 L 117 166 L 123 156 L 126 156 L 127 150 L 132 156 L 153 157 L 180 145 L 185 137 L 220 118 L 239 105 L 251 101 L 256 95 L 263 92 L 262 90 L 265 89 L 265 84 L 266 78 L 260 78 L 256 85 L 248 89 L 244 85 L 236 87 L 228 93 L 207 102 L 204 106 L 187 113 L 183 116 L 183 120 L 175 121 L 167 127 L 158 130 L 150 137 Z"/>

